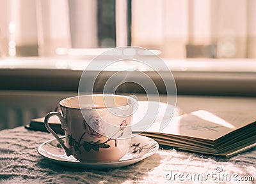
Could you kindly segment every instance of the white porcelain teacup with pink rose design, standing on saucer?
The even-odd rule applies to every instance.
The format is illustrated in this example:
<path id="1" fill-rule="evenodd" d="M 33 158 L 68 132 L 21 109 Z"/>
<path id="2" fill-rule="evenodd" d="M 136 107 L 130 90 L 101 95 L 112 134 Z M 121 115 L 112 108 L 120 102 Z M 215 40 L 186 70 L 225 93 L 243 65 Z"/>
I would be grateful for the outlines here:
<path id="1" fill-rule="evenodd" d="M 62 111 L 45 116 L 45 127 L 67 156 L 81 162 L 115 162 L 129 149 L 132 113 L 136 100 L 118 95 L 88 95 L 60 101 Z M 60 118 L 67 145 L 49 127 L 51 116 Z"/>

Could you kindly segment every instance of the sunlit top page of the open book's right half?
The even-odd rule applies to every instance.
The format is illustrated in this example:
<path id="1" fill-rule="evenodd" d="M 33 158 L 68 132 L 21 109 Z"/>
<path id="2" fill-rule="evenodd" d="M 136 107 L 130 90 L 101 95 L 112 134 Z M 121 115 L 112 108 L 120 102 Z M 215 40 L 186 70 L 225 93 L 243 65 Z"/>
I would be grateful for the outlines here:
<path id="1" fill-rule="evenodd" d="M 253 113 L 218 112 L 199 110 L 189 114 L 173 117 L 169 124 L 159 130 L 161 122 L 152 124 L 145 132 L 159 132 L 192 138 L 216 140 L 228 132 L 234 131 L 256 120 Z M 136 131 L 132 129 L 132 131 Z"/>

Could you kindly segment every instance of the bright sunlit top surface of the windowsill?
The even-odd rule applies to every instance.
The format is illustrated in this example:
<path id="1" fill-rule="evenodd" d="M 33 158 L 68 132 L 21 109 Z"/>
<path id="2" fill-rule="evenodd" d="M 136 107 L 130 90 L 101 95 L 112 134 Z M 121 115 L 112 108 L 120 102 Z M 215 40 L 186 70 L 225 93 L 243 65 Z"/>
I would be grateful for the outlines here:
<path id="1" fill-rule="evenodd" d="M 145 58 L 146 60 L 147 58 Z M 0 69 L 71 69 L 83 71 L 93 60 L 68 57 L 5 57 L 0 58 Z M 256 59 L 164 59 L 171 71 L 204 72 L 256 72 Z M 97 61 L 99 62 L 99 61 Z M 102 61 L 104 62 L 104 61 Z M 119 65 L 121 66 L 121 65 Z M 120 71 L 120 67 L 109 67 L 111 71 Z M 122 69 L 139 69 L 147 71 L 148 67 L 131 66 L 122 62 Z"/>

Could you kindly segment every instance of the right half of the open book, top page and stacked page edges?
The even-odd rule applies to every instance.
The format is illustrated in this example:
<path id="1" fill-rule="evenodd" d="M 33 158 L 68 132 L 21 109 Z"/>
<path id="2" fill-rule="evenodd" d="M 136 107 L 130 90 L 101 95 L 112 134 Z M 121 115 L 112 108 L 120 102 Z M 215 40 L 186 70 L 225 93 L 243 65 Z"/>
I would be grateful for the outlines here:
<path id="1" fill-rule="evenodd" d="M 154 122 L 141 134 L 162 146 L 228 158 L 256 146 L 255 120 L 253 111 L 198 110 L 173 117 L 162 130 L 161 121 Z M 141 132 L 141 129 L 132 131 Z"/>

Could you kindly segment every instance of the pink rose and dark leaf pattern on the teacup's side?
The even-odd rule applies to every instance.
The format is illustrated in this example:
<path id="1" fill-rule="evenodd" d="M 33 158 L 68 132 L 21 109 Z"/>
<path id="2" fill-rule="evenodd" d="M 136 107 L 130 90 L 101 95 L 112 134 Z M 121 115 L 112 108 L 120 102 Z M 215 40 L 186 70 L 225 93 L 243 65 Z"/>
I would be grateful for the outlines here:
<path id="1" fill-rule="evenodd" d="M 76 152 L 79 152 L 80 154 L 81 154 L 81 150 L 80 150 L 81 147 L 83 147 L 84 150 L 86 150 L 86 152 L 90 152 L 90 150 L 99 152 L 100 148 L 106 149 L 111 146 L 107 144 L 109 141 L 115 141 L 115 146 L 117 146 L 117 139 L 123 136 L 124 129 L 125 127 L 127 127 L 127 124 L 128 124 L 127 120 L 123 120 L 119 126 L 120 128 L 118 129 L 118 131 L 116 131 L 115 134 L 111 136 L 111 138 L 109 138 L 104 142 L 100 142 L 100 139 L 99 139 L 97 141 L 83 141 L 82 143 L 82 139 L 85 134 L 88 134 L 89 136 L 92 136 L 92 137 L 100 138 L 102 134 L 106 132 L 106 127 L 104 127 L 99 117 L 92 116 L 89 118 L 89 122 L 90 124 L 93 124 L 93 128 L 90 127 L 90 125 L 86 121 L 84 121 L 85 131 L 78 141 L 74 139 L 72 135 L 68 134 L 69 145 L 73 146 L 74 150 Z"/>

